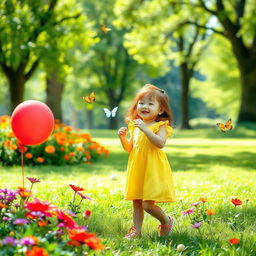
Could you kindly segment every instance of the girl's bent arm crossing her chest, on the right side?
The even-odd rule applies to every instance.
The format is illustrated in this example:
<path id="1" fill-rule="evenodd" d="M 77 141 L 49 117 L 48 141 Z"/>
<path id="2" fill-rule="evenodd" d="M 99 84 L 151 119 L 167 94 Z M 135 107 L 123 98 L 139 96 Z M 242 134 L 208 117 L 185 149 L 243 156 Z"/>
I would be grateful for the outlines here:
<path id="1" fill-rule="evenodd" d="M 160 126 L 157 134 L 153 133 L 142 120 L 136 120 L 135 126 L 139 127 L 145 133 L 150 142 L 158 148 L 163 148 L 166 143 L 166 129 Z"/>

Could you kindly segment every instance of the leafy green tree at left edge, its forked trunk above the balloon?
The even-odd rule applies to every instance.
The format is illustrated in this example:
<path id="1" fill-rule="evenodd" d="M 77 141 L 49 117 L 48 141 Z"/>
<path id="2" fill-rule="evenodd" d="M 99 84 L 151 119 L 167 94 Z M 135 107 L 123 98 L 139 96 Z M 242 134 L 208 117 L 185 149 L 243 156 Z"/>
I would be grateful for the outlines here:
<path id="1" fill-rule="evenodd" d="M 69 13 L 73 4 L 58 0 L 1 1 L 0 67 L 9 82 L 11 110 L 23 101 L 25 83 L 49 53 L 49 34 L 53 38 L 64 35 L 67 30 L 61 25 L 80 16 L 76 10 Z M 54 30 L 59 33 L 51 33 Z"/>

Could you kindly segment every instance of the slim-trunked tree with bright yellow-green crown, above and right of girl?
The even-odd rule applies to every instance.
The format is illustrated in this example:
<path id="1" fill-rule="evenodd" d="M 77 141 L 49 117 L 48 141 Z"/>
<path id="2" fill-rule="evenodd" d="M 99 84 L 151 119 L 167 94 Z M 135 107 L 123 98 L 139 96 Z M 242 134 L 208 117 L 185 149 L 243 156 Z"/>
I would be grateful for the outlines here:
<path id="1" fill-rule="evenodd" d="M 134 53 L 135 59 L 155 68 L 164 67 L 162 74 L 168 71 L 170 59 L 175 60 L 182 88 L 180 127 L 190 128 L 189 85 L 210 35 L 201 28 L 180 27 L 181 22 L 186 23 L 188 20 L 189 13 L 184 12 L 179 5 L 170 5 L 169 1 L 142 0 L 139 3 L 127 3 L 119 0 L 116 9 L 121 9 L 123 14 L 119 16 L 119 23 L 133 27 L 132 32 L 126 35 L 126 46 Z M 127 16 L 130 16 L 128 22 Z M 200 20 L 207 23 L 203 15 Z"/>

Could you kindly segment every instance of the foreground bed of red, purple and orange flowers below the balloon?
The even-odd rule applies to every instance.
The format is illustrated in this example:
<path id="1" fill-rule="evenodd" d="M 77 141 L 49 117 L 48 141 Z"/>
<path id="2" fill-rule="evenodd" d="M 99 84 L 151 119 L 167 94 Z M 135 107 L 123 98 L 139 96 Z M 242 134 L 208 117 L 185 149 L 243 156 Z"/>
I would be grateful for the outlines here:
<path id="1" fill-rule="evenodd" d="M 83 188 L 70 184 L 73 200 L 68 210 L 61 210 L 48 201 L 32 199 L 33 184 L 40 181 L 27 179 L 31 182 L 30 190 L 0 189 L 0 255 L 75 256 L 104 248 L 94 233 L 76 221 L 82 213 L 82 201 L 90 200 L 81 193 Z M 84 211 L 80 222 L 90 215 L 89 210 Z"/>

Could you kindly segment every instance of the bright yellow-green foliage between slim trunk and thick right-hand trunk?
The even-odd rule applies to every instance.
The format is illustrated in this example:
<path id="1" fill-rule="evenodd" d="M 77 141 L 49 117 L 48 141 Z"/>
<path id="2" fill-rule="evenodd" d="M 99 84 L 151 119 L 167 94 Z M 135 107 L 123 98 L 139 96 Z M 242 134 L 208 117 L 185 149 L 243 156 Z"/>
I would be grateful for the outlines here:
<path id="1" fill-rule="evenodd" d="M 192 95 L 225 118 L 235 119 L 240 107 L 241 87 L 237 62 L 227 40 L 213 39 L 199 69 L 207 79 L 192 81 Z"/>

